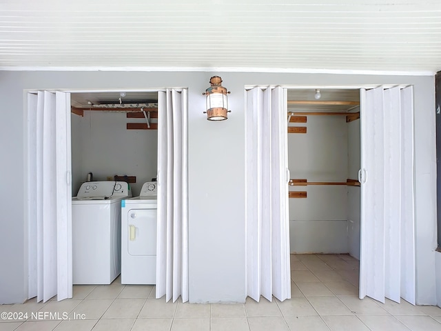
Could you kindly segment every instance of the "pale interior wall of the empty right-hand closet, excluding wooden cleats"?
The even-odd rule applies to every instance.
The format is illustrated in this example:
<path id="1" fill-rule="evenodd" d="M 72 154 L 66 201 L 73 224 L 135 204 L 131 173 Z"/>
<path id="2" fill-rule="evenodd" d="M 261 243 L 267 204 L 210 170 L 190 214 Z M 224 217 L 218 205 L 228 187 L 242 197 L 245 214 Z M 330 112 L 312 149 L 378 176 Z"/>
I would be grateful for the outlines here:
<path id="1" fill-rule="evenodd" d="M 358 178 L 359 119 L 347 123 L 345 115 L 308 115 L 301 126 L 307 133 L 288 134 L 291 179 L 341 184 Z M 360 187 L 296 185 L 289 190 L 307 192 L 306 198 L 289 199 L 291 253 L 349 253 L 360 259 Z"/>

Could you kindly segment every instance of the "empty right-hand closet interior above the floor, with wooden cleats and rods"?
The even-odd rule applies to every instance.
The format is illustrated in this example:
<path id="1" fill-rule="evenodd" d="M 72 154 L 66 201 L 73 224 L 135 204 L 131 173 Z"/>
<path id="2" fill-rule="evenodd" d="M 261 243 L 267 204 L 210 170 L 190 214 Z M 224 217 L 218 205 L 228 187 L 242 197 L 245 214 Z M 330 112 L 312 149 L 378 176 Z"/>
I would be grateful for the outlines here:
<path id="1" fill-rule="evenodd" d="M 290 252 L 360 259 L 360 90 L 287 99 Z"/>

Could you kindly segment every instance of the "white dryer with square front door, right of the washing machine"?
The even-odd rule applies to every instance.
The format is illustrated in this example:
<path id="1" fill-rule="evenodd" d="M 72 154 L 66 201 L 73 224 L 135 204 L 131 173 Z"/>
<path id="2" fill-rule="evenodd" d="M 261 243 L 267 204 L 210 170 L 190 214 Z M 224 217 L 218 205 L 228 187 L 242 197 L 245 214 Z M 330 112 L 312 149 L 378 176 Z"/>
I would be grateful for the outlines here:
<path id="1" fill-rule="evenodd" d="M 156 283 L 157 183 L 121 202 L 121 283 Z"/>

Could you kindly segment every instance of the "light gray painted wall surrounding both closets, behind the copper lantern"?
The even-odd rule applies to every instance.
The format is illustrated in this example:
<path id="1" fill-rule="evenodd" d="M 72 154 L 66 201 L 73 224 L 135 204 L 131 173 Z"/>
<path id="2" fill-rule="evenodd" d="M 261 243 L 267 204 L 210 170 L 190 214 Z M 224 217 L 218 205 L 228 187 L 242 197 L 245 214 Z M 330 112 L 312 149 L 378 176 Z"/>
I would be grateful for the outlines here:
<path id="1" fill-rule="evenodd" d="M 205 119 L 201 93 L 218 74 L 229 119 Z M 258 72 L 1 72 L 0 303 L 27 297 L 25 89 L 189 88 L 189 300 L 245 301 L 245 85 L 413 84 L 416 123 L 417 302 L 435 304 L 433 77 Z"/>

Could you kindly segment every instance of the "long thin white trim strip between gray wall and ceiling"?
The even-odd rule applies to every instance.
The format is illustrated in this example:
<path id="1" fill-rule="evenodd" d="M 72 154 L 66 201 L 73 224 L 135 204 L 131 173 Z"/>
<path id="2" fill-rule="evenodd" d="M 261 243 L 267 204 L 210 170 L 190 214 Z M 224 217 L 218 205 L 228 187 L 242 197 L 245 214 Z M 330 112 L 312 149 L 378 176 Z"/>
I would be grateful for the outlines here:
<path id="1" fill-rule="evenodd" d="M 0 71 L 142 71 L 142 72 L 262 72 L 296 74 L 366 74 L 387 76 L 435 76 L 435 71 L 394 70 L 338 70 L 300 68 L 236 68 L 236 67 L 43 67 L 43 66 L 0 66 Z"/>

